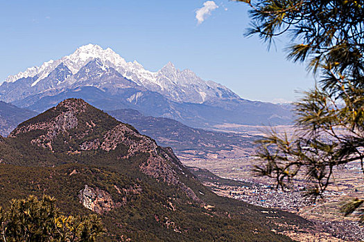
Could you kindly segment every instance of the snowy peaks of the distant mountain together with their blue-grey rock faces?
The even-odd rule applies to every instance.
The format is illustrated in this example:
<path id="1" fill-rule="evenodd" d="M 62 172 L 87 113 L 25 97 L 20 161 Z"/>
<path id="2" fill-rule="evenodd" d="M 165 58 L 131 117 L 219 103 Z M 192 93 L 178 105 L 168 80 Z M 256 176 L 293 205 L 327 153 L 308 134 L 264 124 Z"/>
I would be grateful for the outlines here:
<path id="1" fill-rule="evenodd" d="M 55 71 L 56 68 L 60 70 Z M 112 75 L 110 71 L 112 73 L 116 71 L 117 74 Z M 49 77 L 50 73 L 53 73 L 51 77 Z M 149 91 L 160 93 L 175 102 L 202 103 L 216 97 L 239 97 L 225 86 L 202 80 L 189 69 L 178 70 L 171 62 L 168 62 L 159 71 L 152 72 L 146 70 L 137 61 L 126 62 L 123 57 L 115 53 L 111 48 L 103 49 L 96 44 L 80 46 L 71 55 L 55 61 L 44 62 L 39 67 L 28 68 L 22 73 L 8 77 L 6 82 L 15 82 L 15 86 L 17 86 L 17 80 L 23 77 L 32 77 L 29 86 L 21 86 L 21 82 L 18 82 L 19 90 L 24 89 L 24 92 L 27 93 L 24 95 L 30 95 L 29 93 L 32 95 L 37 94 L 38 91 L 57 93 L 56 90 L 58 89 L 64 90 L 69 86 L 86 85 L 89 80 L 92 80 L 92 83 L 87 85 L 97 87 L 112 83 L 114 80 L 101 80 L 105 73 L 110 74 L 110 78 L 111 76 L 112 78 L 122 76 L 133 83 L 128 85 L 118 84 L 123 88 L 133 85 L 143 86 Z M 54 80 L 50 80 L 50 78 Z M 4 94 L 2 98 L 12 102 L 18 97 L 7 97 Z"/>

